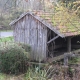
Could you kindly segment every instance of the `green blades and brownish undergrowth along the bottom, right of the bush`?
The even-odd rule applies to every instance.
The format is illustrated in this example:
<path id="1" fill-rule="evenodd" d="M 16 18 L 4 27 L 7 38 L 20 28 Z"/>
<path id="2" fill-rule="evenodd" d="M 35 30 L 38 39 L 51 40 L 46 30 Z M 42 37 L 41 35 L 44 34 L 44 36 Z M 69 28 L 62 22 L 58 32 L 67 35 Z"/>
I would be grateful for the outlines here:
<path id="1" fill-rule="evenodd" d="M 70 65 L 66 67 L 57 62 L 56 64 L 49 64 L 44 68 L 39 66 L 29 68 L 25 74 L 25 80 L 79 80 L 80 66 Z"/>

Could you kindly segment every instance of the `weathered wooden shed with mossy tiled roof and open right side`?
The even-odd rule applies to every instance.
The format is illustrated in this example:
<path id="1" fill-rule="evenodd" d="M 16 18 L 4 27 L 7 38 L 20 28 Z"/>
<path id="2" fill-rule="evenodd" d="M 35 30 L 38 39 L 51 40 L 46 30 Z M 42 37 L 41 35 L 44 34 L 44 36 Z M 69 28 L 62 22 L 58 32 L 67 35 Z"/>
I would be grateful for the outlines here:
<path id="1" fill-rule="evenodd" d="M 31 46 L 32 60 L 46 60 L 80 47 L 80 26 L 55 25 L 51 17 L 53 13 L 27 12 L 10 23 L 15 41 Z"/>

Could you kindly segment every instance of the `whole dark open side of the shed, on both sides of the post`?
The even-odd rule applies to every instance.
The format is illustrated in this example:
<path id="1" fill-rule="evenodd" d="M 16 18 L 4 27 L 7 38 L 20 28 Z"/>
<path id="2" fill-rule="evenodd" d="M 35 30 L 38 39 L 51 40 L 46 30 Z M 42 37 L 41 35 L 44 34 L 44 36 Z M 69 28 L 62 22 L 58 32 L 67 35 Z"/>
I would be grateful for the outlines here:
<path id="1" fill-rule="evenodd" d="M 61 38 L 57 37 L 54 39 L 56 36 L 58 36 L 55 32 L 47 28 L 47 57 L 56 57 L 61 54 L 64 54 L 65 52 L 68 52 L 68 38 Z M 71 37 L 71 51 L 80 49 L 80 36 L 72 36 Z"/>

